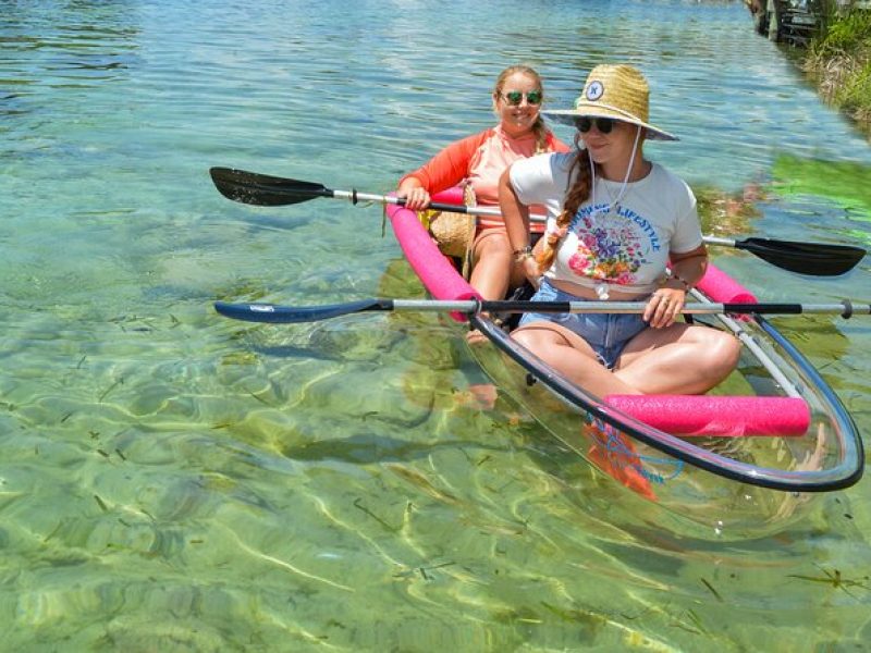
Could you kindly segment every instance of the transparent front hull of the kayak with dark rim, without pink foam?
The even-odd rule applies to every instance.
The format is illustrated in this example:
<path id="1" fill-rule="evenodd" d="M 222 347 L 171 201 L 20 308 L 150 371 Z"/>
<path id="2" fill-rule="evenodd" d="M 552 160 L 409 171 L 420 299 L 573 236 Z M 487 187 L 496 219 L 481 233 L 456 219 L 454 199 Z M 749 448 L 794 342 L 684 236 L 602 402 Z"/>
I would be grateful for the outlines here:
<path id="1" fill-rule="evenodd" d="M 802 518 L 819 493 L 851 485 L 861 477 L 855 424 L 827 386 L 819 385 L 809 365 L 807 374 L 798 364 L 792 369 L 811 407 L 805 434 L 680 438 L 585 393 L 490 320 L 473 321 L 490 342 L 469 349 L 500 392 L 600 472 L 679 520 L 701 527 L 696 534 L 780 530 Z M 769 330 L 777 334 L 766 322 L 745 328 L 760 335 Z M 761 342 L 781 364 L 794 354 L 788 343 L 782 350 L 773 336 Z M 734 378 L 717 390 L 741 384 L 777 390 L 760 372 L 753 357 L 743 356 Z"/>

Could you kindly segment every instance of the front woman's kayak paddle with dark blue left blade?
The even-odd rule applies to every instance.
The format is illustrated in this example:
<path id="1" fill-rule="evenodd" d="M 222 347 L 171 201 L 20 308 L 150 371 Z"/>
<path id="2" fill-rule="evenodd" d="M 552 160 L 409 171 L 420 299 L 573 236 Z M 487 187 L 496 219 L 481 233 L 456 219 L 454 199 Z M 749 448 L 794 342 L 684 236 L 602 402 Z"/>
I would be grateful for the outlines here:
<path id="1" fill-rule="evenodd" d="M 272 322 L 293 324 L 317 322 L 359 312 L 417 310 L 453 311 L 463 313 L 488 312 L 587 312 L 587 313 L 637 313 L 643 312 L 643 301 L 488 301 L 478 299 L 358 299 L 346 304 L 323 306 L 280 306 L 277 304 L 229 304 L 216 301 L 214 309 L 228 318 L 247 322 Z M 842 318 L 854 315 L 871 315 L 871 305 L 852 304 L 848 299 L 839 304 L 687 304 L 684 313 L 834 313 Z"/>

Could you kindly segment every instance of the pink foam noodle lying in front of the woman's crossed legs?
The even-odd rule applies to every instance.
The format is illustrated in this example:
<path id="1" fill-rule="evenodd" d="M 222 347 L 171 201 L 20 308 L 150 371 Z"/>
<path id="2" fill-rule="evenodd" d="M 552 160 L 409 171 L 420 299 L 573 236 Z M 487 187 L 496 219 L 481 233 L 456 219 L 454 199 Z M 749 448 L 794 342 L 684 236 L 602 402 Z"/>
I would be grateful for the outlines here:
<path id="1" fill-rule="evenodd" d="M 609 395 L 605 404 L 675 435 L 803 435 L 810 408 L 797 397 Z"/>

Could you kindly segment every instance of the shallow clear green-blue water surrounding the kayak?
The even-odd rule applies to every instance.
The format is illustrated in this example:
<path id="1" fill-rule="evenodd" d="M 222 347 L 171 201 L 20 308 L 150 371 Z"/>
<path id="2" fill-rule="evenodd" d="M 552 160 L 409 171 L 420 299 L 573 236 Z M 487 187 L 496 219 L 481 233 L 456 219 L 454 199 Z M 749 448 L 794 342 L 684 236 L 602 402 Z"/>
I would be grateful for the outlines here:
<path id="1" fill-rule="evenodd" d="M 651 79 L 682 141 L 648 155 L 712 198 L 710 233 L 871 245 L 871 149 L 739 2 L 0 4 L 4 644 L 863 645 L 867 481 L 785 532 L 691 539 L 506 401 L 476 409 L 437 317 L 211 309 L 421 291 L 377 207 L 233 204 L 209 167 L 387 192 L 492 123 L 505 65 L 567 106 L 615 59 Z M 871 299 L 869 259 L 716 262 L 764 300 Z M 869 432 L 868 319 L 776 323 Z"/>

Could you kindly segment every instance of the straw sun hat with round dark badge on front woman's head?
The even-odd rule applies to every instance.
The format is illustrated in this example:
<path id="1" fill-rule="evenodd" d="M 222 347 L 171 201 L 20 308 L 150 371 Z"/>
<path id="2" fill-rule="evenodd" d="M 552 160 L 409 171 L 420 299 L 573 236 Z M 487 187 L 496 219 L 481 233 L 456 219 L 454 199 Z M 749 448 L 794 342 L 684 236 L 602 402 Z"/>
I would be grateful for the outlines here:
<path id="1" fill-rule="evenodd" d="M 584 93 L 574 109 L 542 111 L 545 118 L 566 125 L 576 125 L 579 118 L 613 118 L 641 125 L 647 137 L 677 140 L 677 136 L 648 123 L 650 86 L 638 69 L 631 65 L 597 65 L 587 76 Z"/>

